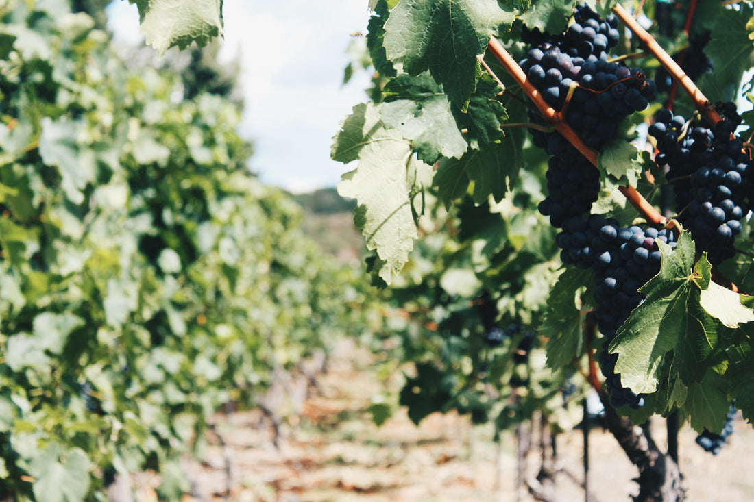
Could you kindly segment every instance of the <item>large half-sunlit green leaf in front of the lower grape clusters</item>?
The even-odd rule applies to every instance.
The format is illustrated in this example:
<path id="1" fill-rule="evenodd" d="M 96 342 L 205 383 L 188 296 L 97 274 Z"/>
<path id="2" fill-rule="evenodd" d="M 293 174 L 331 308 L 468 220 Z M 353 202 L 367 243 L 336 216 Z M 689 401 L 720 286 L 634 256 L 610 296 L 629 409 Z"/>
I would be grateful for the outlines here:
<path id="1" fill-rule="evenodd" d="M 610 351 L 619 354 L 615 372 L 636 393 L 652 393 L 676 378 L 685 384 L 698 381 L 717 342 L 716 323 L 699 305 L 700 292 L 710 282 L 709 262 L 702 257 L 694 266 L 694 243 L 687 232 L 673 251 L 658 245 L 663 253 L 661 270 L 642 286 L 645 302 L 610 344 Z M 673 371 L 661 382 L 661 368 L 671 363 L 664 361 L 671 350 Z"/>

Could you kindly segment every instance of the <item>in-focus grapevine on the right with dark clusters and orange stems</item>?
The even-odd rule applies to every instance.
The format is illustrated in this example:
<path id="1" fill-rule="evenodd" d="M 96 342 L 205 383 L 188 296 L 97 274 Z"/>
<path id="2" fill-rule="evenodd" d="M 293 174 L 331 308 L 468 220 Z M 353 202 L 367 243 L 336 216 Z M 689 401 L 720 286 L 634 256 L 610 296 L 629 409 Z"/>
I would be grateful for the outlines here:
<path id="1" fill-rule="evenodd" d="M 523 332 L 535 332 L 532 354 L 544 350 L 553 379 L 579 375 L 580 385 L 602 389 L 605 405 L 635 423 L 679 412 L 695 430 L 719 433 L 734 400 L 750 421 L 745 375 L 751 361 L 744 354 L 751 353 L 754 312 L 740 291 L 752 291 L 751 155 L 743 141 L 751 119 L 730 104 L 715 106 L 734 102 L 737 87 L 722 82 L 740 81 L 751 66 L 750 5 L 694 2 L 679 23 L 684 31 L 671 39 L 678 23 L 667 17 L 676 13 L 659 2 L 652 5 L 658 23 L 649 30 L 636 20 L 641 12 L 630 14 L 616 2 L 493 4 L 434 2 L 430 16 L 420 0 L 377 2 L 369 26 L 379 35 L 367 38 L 368 49 L 375 67 L 392 63 L 398 75 L 382 74 L 387 93 L 375 79 L 373 103 L 355 107 L 335 137 L 333 158 L 359 161 L 340 190 L 357 199 L 355 221 L 368 237 L 369 262 L 382 286 L 395 298 L 407 298 L 397 293 L 403 290 L 425 294 L 422 281 L 455 291 L 450 304 L 429 302 L 409 314 L 417 323 L 446 314 L 447 322 L 434 318 L 440 329 L 427 335 L 445 347 L 443 357 L 412 356 L 407 347 L 403 357 L 421 361 L 425 372 L 434 360 L 440 374 L 456 376 L 443 387 L 442 409 L 475 392 L 479 402 L 523 395 L 519 386 L 528 381 L 531 393 L 547 395 L 538 406 L 552 410 L 547 399 L 562 396 L 539 392 L 547 384 L 538 379 L 537 357 L 517 374 L 520 340 L 507 328 L 523 324 Z M 466 24 L 438 21 L 454 16 Z M 674 60 L 659 40 L 684 56 Z M 480 73 L 476 87 L 437 63 L 449 60 L 450 47 L 453 71 L 470 65 Z M 469 55 L 459 56 L 459 47 Z M 730 47 L 740 48 L 743 60 L 726 66 Z M 708 60 L 696 54 L 702 50 Z M 690 66 L 694 54 L 704 63 L 699 71 Z M 412 79 L 426 88 L 428 78 L 437 82 L 432 99 L 444 95 L 444 113 L 415 99 Z M 400 91 L 393 84 L 399 80 Z M 398 101 L 403 109 L 414 107 L 410 127 L 409 118 L 396 121 L 388 106 Z M 489 131 L 498 126 L 492 117 L 501 133 L 478 134 L 485 121 Z M 428 131 L 421 147 L 417 120 Z M 517 127 L 526 127 L 530 139 Z M 456 130 L 465 148 L 425 155 L 433 141 L 458 138 Z M 392 145 L 382 141 L 387 136 Z M 399 180 L 391 185 L 398 203 L 388 203 L 372 166 L 396 158 L 399 145 L 400 164 L 382 167 Z M 409 237 L 413 228 L 418 240 Z M 427 254 L 425 240 L 432 239 L 446 249 Z M 429 270 L 425 260 L 442 268 Z M 532 283 L 511 280 L 514 270 Z M 452 285 L 451 277 L 462 277 L 465 286 Z M 479 309 L 470 308 L 478 305 L 480 287 L 485 303 L 495 304 L 495 323 L 489 312 L 480 319 Z M 452 354 L 470 358 L 471 368 L 454 369 Z M 594 374 L 595 362 L 602 377 Z M 479 393 L 474 375 L 480 373 L 494 391 Z M 421 381 L 411 384 L 421 387 Z M 410 409 L 412 402 L 402 403 Z M 486 409 L 498 427 L 521 420 L 493 404 Z M 646 454 L 614 433 L 630 456 Z M 648 494 L 651 469 L 636 463 Z"/>

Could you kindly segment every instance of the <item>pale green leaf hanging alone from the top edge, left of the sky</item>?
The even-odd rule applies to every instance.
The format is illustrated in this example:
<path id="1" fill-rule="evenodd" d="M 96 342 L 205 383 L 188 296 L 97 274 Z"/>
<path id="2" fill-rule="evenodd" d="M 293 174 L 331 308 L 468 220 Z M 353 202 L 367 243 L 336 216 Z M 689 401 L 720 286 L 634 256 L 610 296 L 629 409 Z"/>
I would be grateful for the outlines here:
<path id="1" fill-rule="evenodd" d="M 222 36 L 222 0 L 128 0 L 139 8 L 139 32 L 165 54 L 170 47 L 199 47 Z"/>

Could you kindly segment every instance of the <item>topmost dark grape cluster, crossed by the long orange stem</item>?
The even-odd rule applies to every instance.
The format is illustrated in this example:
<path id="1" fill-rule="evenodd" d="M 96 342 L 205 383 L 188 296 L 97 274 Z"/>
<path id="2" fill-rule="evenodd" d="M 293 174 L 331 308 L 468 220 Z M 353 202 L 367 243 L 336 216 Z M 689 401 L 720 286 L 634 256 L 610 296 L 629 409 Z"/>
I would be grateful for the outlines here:
<path id="1" fill-rule="evenodd" d="M 574 21 L 559 35 L 525 30 L 525 38 L 538 46 L 520 66 L 545 102 L 566 112 L 566 121 L 581 139 L 600 148 L 615 137 L 616 124 L 648 105 L 654 83 L 640 69 L 608 63 L 607 51 L 618 42 L 614 16 L 602 20 L 581 4 Z M 529 116 L 542 124 L 535 113 Z M 531 131 L 535 145 L 553 156 L 547 172 L 548 196 L 539 209 L 559 228 L 566 219 L 589 212 L 599 194 L 599 171 L 559 133 Z"/>

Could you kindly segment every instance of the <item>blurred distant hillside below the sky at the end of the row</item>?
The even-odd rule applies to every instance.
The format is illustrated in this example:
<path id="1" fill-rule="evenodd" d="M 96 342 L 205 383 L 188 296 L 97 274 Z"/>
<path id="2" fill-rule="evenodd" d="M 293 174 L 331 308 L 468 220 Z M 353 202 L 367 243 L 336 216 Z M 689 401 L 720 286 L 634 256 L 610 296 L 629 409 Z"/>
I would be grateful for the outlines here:
<path id="1" fill-rule="evenodd" d="M 344 199 L 335 188 L 291 197 L 304 208 L 304 231 L 323 251 L 342 262 L 360 261 L 364 240 L 354 227 L 356 200 Z"/>

